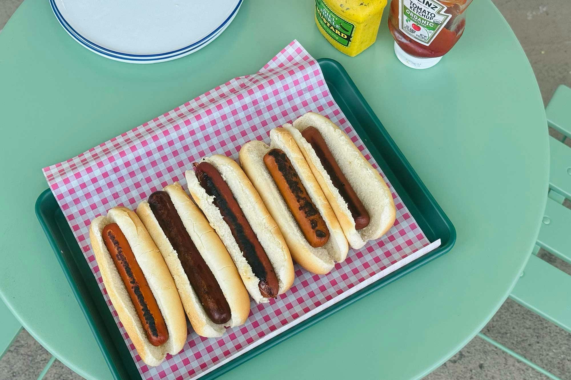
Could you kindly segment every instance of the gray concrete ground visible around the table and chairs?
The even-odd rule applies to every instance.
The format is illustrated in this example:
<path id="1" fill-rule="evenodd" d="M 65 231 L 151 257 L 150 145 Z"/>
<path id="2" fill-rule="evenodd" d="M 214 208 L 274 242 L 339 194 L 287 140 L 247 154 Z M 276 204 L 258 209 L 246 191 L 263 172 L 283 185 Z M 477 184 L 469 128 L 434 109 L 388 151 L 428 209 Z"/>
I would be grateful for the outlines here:
<path id="1" fill-rule="evenodd" d="M 478 0 L 476 0 L 478 1 Z M 559 84 L 571 87 L 571 3 L 569 0 L 492 0 L 508 20 L 537 77 L 545 104 Z M 0 29 L 21 0 L 0 0 Z M 469 21 L 468 21 L 469 22 Z M 557 132 L 550 130 L 557 136 Z M 571 146 L 571 139 L 567 140 Z M 548 252 L 538 256 L 571 274 L 571 265 Z M 562 379 L 571 379 L 571 334 L 516 302 L 507 300 L 482 332 Z M 26 332 L 15 339 L 0 360 L 0 380 L 31 379 L 51 355 Z M 45 379 L 81 379 L 55 361 Z M 547 379 L 510 355 L 474 338 L 428 380 Z"/>

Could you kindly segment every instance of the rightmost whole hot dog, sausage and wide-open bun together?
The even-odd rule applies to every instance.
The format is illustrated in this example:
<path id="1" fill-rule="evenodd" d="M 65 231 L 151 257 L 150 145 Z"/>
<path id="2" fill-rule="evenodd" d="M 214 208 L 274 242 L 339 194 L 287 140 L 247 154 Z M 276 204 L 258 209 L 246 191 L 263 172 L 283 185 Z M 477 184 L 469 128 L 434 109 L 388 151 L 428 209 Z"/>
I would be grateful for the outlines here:
<path id="1" fill-rule="evenodd" d="M 387 233 L 396 215 L 391 191 L 351 139 L 313 112 L 284 128 L 307 160 L 349 244 L 361 248 Z"/>

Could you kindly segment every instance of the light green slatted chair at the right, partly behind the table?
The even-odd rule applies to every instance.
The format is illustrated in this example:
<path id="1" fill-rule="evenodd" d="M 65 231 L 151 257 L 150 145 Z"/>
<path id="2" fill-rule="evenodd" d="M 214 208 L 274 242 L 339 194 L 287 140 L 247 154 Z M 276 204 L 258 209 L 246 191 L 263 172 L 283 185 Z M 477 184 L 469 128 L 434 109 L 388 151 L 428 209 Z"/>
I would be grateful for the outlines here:
<path id="1" fill-rule="evenodd" d="M 551 164 L 545 213 L 536 246 L 509 297 L 571 333 L 571 276 L 536 256 L 543 248 L 571 264 L 571 210 L 563 205 L 565 199 L 571 200 L 571 148 L 563 143 L 571 139 L 571 88 L 559 86 L 545 114 L 548 125 L 564 137 L 559 141 L 549 136 Z M 559 379 L 488 336 L 478 336 L 547 377 Z"/>

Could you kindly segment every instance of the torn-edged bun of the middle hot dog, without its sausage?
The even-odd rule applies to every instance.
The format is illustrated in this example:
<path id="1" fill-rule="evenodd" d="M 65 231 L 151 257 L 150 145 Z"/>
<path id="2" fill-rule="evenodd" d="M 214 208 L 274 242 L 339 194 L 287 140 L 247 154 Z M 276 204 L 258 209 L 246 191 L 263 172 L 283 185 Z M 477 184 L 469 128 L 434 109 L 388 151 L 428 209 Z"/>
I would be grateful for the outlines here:
<path id="1" fill-rule="evenodd" d="M 226 156 L 214 155 L 205 157 L 201 161 L 206 161 L 214 166 L 224 181 L 226 181 L 228 187 L 230 187 L 232 194 L 242 208 L 248 223 L 250 223 L 252 230 L 256 234 L 256 237 L 258 237 L 260 244 L 262 244 L 274 268 L 279 282 L 278 294 L 286 292 L 293 284 L 293 263 L 288 247 L 278 225 L 268 212 L 258 192 L 246 176 L 246 173 L 242 171 L 242 168 L 240 168 L 236 161 Z M 198 207 L 202 209 L 204 215 L 206 215 L 208 221 L 210 221 L 210 225 L 214 227 L 224 242 L 224 245 L 226 245 L 244 281 L 244 285 L 246 285 L 246 289 L 248 289 L 252 298 L 254 298 L 256 302 L 270 301 L 269 298 L 263 297 L 262 293 L 260 293 L 260 289 L 258 288 L 260 279 L 252 272 L 252 267 L 248 264 L 246 258 L 244 258 L 238 243 L 234 239 L 234 236 L 232 236 L 232 232 L 222 218 L 218 207 L 212 203 L 214 197 L 206 193 L 206 190 L 204 190 L 196 178 L 194 171 L 186 171 L 186 180 L 192 198 L 196 204 L 198 204 Z"/>

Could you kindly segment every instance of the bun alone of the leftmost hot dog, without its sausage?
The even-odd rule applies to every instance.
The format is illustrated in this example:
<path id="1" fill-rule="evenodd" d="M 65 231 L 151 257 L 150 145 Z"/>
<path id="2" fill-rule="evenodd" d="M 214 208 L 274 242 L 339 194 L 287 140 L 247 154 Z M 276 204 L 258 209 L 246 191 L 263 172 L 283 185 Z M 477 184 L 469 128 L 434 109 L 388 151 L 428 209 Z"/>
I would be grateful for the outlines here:
<path id="1" fill-rule="evenodd" d="M 135 259 L 159 305 L 168 330 L 168 339 L 161 346 L 155 347 L 148 341 L 135 306 L 127 293 L 127 288 L 103 241 L 103 228 L 110 223 L 118 224 L 127 238 Z M 182 350 L 187 335 L 186 318 L 178 292 L 176 292 L 175 282 L 159 249 L 156 248 L 139 217 L 128 208 L 114 207 L 109 210 L 107 216 L 96 217 L 91 222 L 89 237 L 107 294 L 143 362 L 150 366 L 157 366 L 164 360 L 167 353 L 174 355 Z"/>

